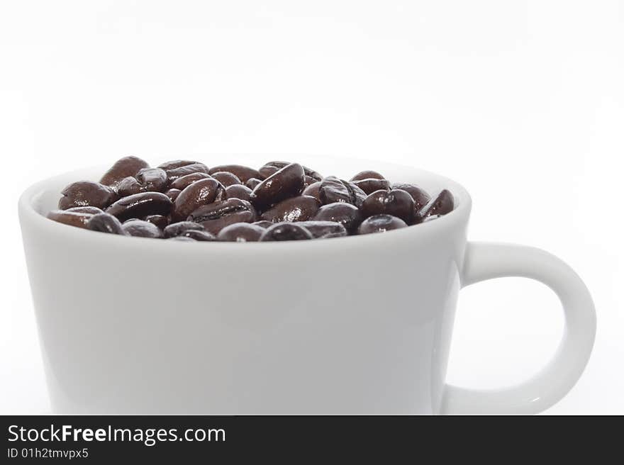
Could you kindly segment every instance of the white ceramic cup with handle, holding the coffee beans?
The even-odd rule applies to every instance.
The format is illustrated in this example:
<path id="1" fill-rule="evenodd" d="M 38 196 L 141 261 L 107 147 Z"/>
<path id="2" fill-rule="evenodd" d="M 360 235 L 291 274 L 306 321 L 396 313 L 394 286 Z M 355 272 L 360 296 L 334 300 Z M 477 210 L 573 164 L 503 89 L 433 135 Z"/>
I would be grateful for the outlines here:
<path id="1" fill-rule="evenodd" d="M 266 157 L 204 157 L 260 166 Z M 19 201 L 28 274 L 55 413 L 537 413 L 583 371 L 596 315 L 567 264 L 520 245 L 466 241 L 471 200 L 435 174 L 297 157 L 348 179 L 376 169 L 455 211 L 382 234 L 292 242 L 177 242 L 55 223 L 72 172 Z M 500 276 L 550 286 L 565 330 L 545 369 L 518 386 L 445 384 L 457 293 Z"/>

